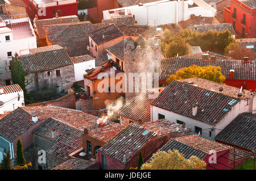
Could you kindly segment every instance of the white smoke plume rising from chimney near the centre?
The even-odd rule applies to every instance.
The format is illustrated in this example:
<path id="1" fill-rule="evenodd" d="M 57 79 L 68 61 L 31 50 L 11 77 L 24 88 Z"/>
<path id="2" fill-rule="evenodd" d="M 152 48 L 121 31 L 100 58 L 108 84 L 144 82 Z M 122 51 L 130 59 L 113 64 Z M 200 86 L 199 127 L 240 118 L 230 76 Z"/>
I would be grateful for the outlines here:
<path id="1" fill-rule="evenodd" d="M 106 115 L 102 115 L 98 120 L 97 124 L 104 124 L 106 121 L 109 121 L 110 119 L 117 119 L 118 113 L 121 111 L 122 107 L 125 105 L 125 99 L 121 96 L 120 98 L 116 100 L 105 100 Z"/>

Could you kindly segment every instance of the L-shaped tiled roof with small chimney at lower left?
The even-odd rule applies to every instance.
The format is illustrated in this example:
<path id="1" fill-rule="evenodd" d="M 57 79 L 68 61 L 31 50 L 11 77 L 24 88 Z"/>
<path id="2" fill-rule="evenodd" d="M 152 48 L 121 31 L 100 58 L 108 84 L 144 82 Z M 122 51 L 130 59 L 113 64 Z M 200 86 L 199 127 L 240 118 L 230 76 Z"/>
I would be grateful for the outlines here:
<path id="1" fill-rule="evenodd" d="M 55 138 L 52 138 L 53 128 L 56 131 Z M 82 131 L 53 118 L 46 120 L 32 133 L 55 142 L 46 153 L 64 161 L 69 158 L 69 154 L 82 147 Z"/>

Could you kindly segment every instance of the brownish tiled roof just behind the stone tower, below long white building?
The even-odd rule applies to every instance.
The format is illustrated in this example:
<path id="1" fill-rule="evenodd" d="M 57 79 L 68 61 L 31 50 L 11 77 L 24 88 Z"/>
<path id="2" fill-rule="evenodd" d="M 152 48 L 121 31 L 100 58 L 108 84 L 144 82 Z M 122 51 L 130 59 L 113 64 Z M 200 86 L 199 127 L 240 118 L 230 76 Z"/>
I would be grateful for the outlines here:
<path id="1" fill-rule="evenodd" d="M 161 31 L 156 31 L 156 27 L 147 25 L 125 25 L 117 24 L 119 30 L 125 33 L 125 36 L 139 36 L 142 35 L 146 39 L 150 39 L 155 35 L 162 35 Z"/>

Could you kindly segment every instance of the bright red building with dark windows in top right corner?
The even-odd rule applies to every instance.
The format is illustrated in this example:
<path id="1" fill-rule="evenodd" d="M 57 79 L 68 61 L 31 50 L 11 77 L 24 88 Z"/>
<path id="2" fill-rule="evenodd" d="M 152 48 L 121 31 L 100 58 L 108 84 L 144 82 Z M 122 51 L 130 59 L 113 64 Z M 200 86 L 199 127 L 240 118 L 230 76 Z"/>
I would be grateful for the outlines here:
<path id="1" fill-rule="evenodd" d="M 230 7 L 224 9 L 224 20 L 232 23 L 237 35 L 242 38 L 256 37 L 255 0 L 231 0 Z"/>

